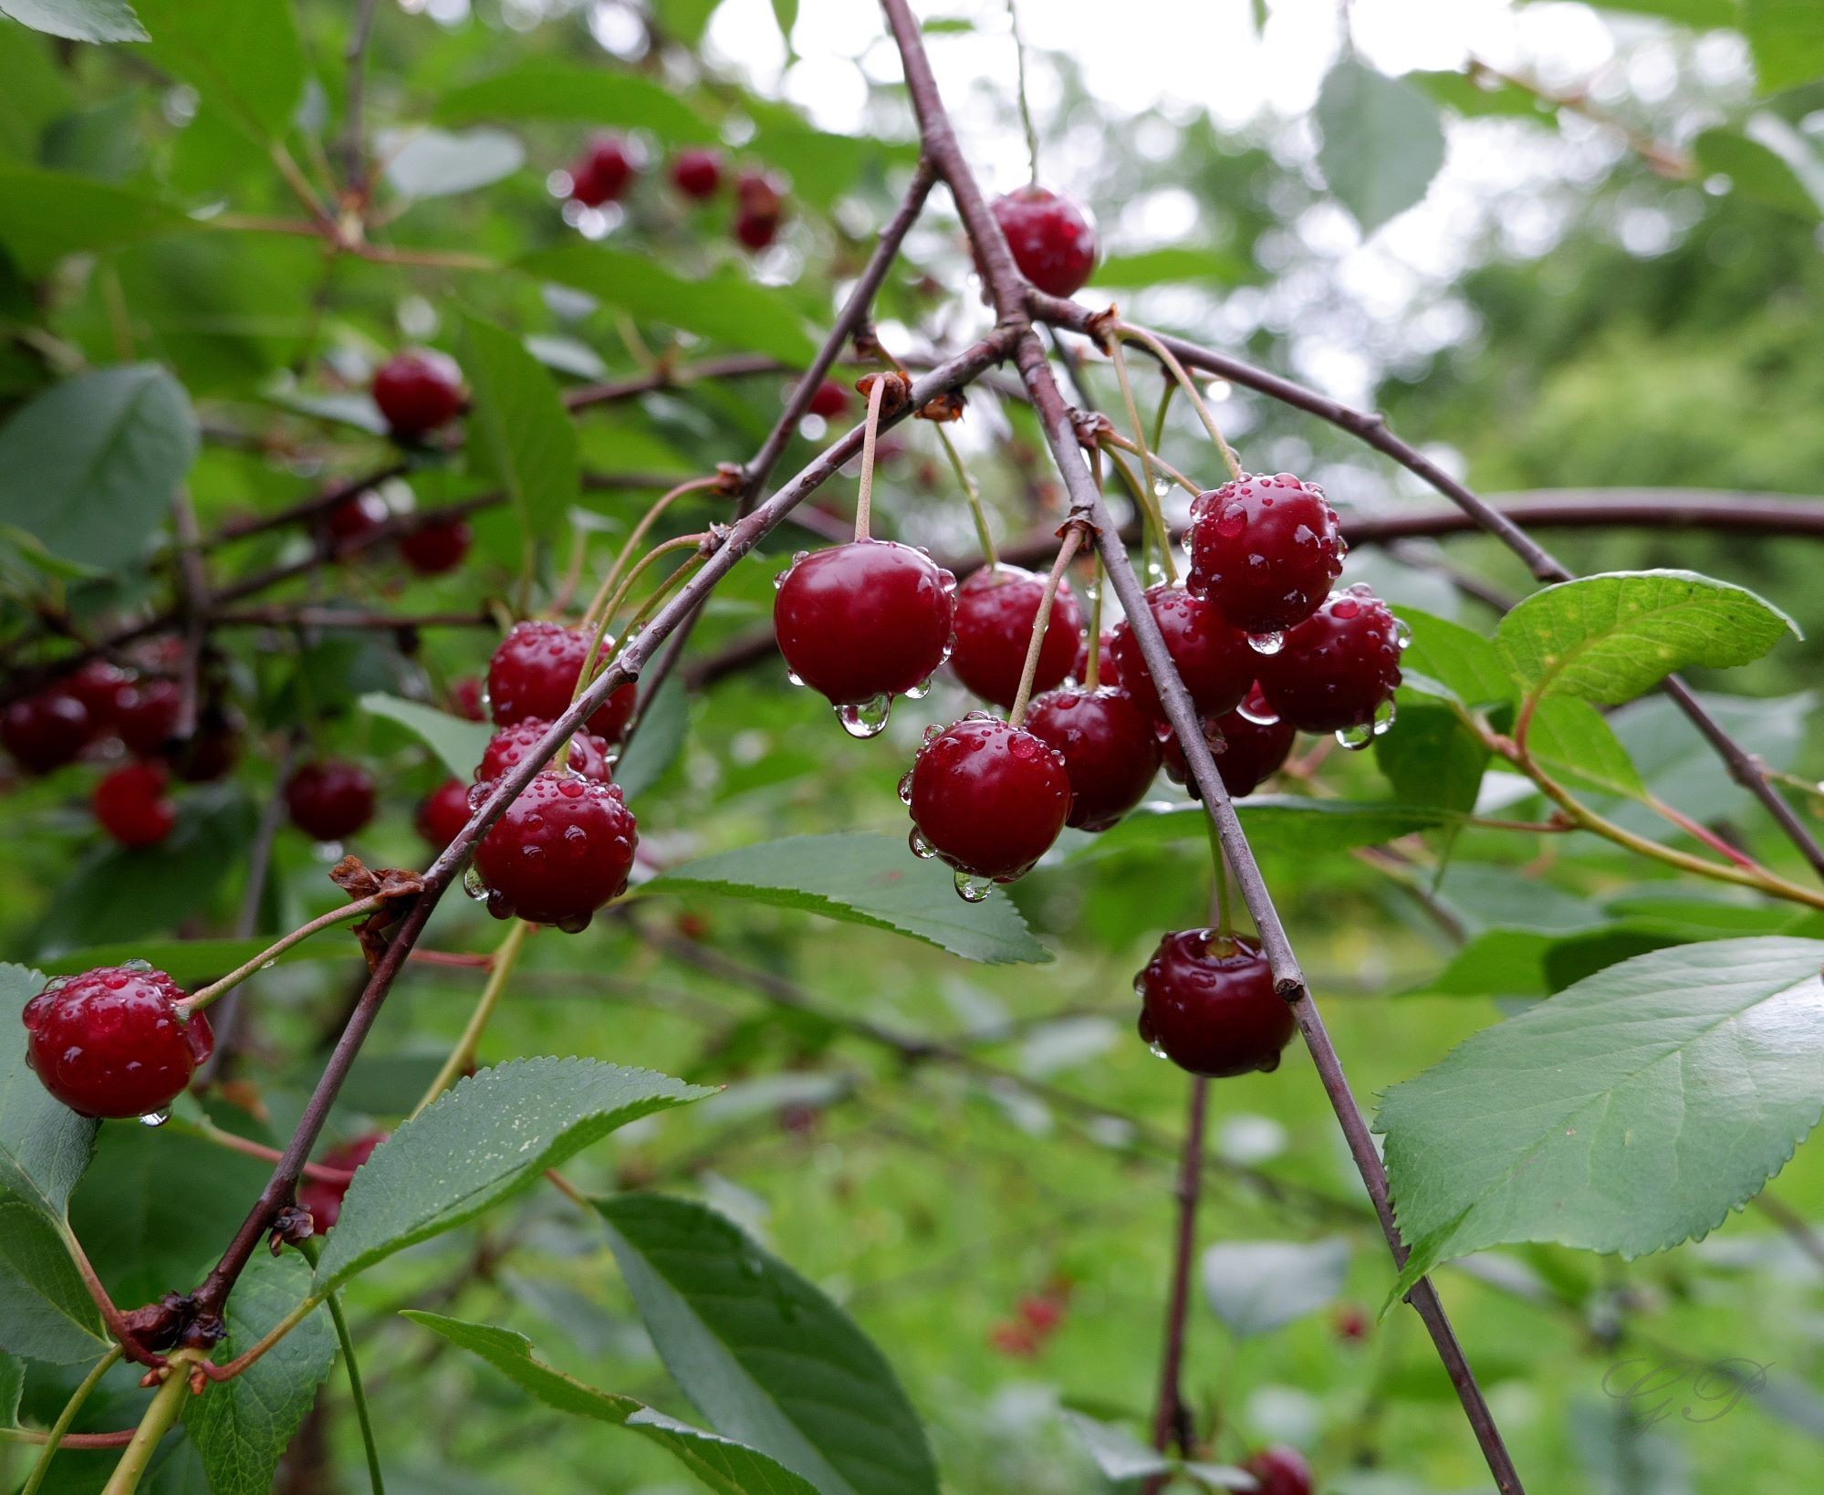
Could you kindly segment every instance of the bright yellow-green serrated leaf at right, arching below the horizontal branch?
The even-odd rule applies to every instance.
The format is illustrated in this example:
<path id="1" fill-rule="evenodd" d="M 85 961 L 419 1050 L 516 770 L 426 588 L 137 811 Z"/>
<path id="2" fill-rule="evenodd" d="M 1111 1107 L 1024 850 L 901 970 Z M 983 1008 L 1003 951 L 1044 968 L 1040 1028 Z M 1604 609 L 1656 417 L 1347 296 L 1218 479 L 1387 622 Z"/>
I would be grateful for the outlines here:
<path id="1" fill-rule="evenodd" d="M 1802 637 L 1746 586 L 1694 571 L 1611 571 L 1534 591 L 1501 619 L 1494 643 L 1529 695 L 1614 706 L 1691 664 L 1760 659 L 1788 632 Z"/>

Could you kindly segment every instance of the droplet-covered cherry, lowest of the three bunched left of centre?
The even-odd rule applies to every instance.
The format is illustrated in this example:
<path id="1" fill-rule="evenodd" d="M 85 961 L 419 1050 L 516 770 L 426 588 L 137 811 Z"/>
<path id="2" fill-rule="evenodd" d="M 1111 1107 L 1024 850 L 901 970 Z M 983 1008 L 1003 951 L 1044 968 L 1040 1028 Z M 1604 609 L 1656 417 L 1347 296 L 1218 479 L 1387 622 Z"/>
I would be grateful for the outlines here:
<path id="1" fill-rule="evenodd" d="M 626 891 L 638 840 L 620 785 L 545 770 L 476 847 L 487 911 L 571 935 L 587 929 L 595 911 Z"/>

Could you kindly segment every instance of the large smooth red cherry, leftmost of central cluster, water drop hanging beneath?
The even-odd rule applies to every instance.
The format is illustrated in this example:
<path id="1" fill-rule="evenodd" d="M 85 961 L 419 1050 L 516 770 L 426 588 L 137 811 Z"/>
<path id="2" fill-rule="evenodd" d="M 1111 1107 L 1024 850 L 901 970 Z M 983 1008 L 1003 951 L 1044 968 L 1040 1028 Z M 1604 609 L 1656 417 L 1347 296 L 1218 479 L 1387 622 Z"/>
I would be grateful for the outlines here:
<path id="1" fill-rule="evenodd" d="M 894 540 L 801 553 L 773 599 L 779 652 L 832 705 L 903 695 L 930 679 L 950 648 L 954 591 L 956 577 Z"/>

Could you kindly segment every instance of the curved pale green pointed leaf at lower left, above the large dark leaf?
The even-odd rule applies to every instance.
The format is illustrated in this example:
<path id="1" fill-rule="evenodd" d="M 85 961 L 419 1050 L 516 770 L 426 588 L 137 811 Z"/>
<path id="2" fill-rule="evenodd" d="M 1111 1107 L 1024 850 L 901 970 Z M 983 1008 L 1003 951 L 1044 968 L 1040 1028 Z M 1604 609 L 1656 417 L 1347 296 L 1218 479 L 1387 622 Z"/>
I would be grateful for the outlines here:
<path id="1" fill-rule="evenodd" d="M 432 1101 L 354 1176 L 317 1292 L 474 1219 L 617 1126 L 713 1092 L 593 1059 L 514 1059 Z"/>

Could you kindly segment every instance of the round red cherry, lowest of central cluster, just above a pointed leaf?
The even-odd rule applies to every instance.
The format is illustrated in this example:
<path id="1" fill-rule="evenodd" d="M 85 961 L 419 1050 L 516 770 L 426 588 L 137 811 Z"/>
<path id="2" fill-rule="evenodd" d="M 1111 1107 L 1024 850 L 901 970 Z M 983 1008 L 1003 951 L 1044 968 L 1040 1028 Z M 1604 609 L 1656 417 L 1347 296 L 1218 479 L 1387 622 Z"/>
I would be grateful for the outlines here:
<path id="1" fill-rule="evenodd" d="M 908 783 L 914 851 L 970 878 L 1012 882 L 1071 818 L 1063 754 L 987 712 L 970 712 L 919 748 Z"/>

